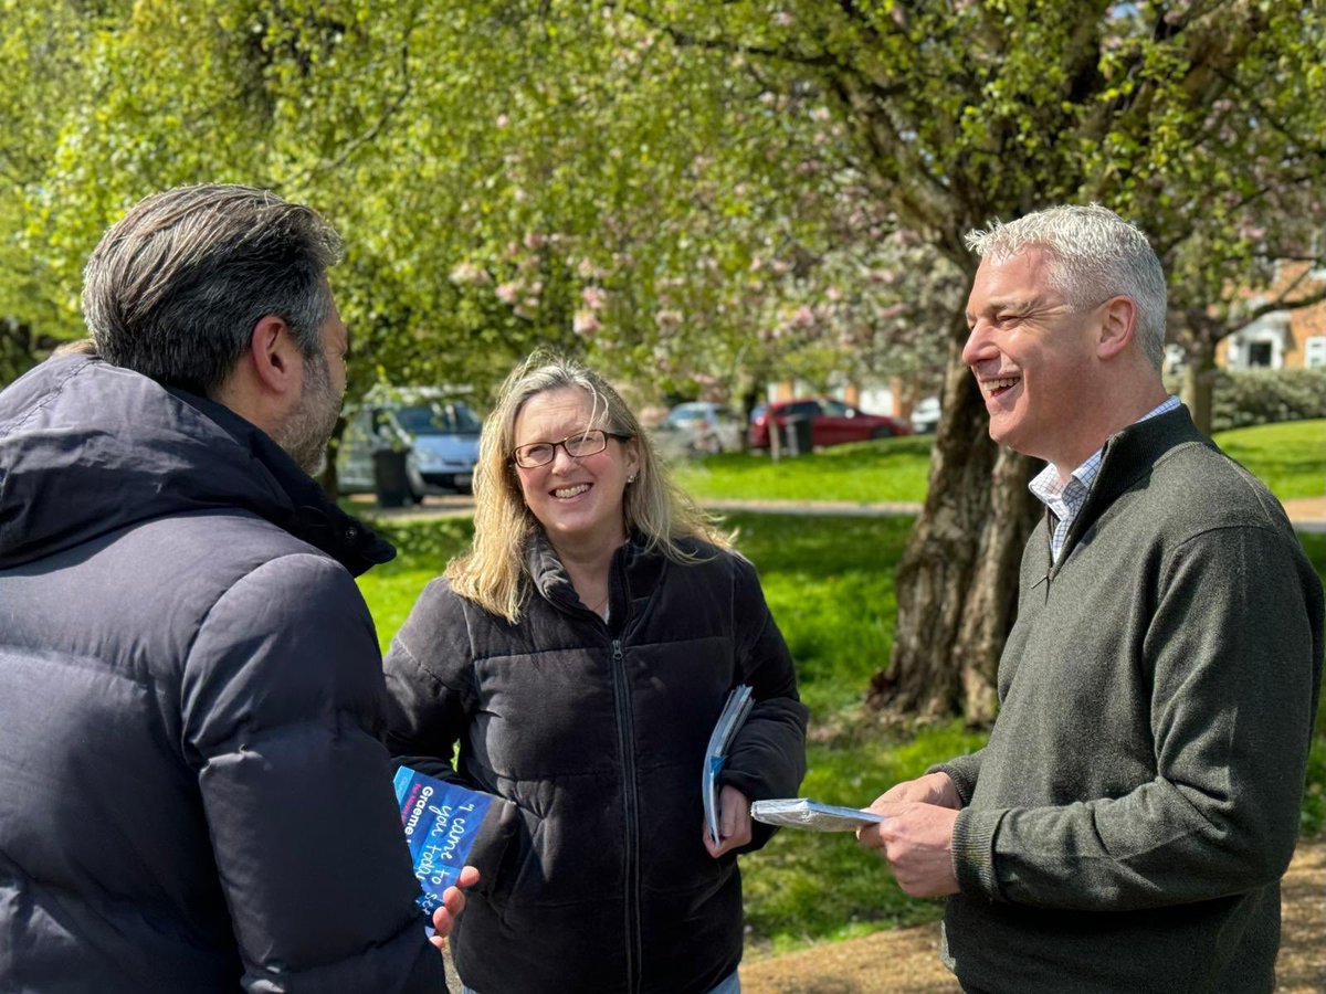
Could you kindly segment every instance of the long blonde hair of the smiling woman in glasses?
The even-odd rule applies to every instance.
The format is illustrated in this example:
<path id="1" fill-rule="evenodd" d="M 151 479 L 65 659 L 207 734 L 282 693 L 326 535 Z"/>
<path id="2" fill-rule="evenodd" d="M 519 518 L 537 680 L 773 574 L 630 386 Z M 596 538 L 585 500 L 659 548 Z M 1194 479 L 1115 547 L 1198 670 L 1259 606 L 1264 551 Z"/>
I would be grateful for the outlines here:
<path id="1" fill-rule="evenodd" d="M 672 482 L 654 443 L 607 380 L 574 359 L 536 351 L 507 376 L 497 406 L 484 421 L 475 467 L 475 541 L 468 553 L 447 565 L 446 573 L 456 594 L 512 624 L 520 620 L 530 587 L 525 549 L 541 527 L 525 505 L 512 463 L 516 419 L 530 398 L 566 388 L 589 395 L 591 425 L 635 440 L 640 464 L 635 482 L 622 497 L 627 534 L 642 535 L 646 551 L 662 551 L 686 565 L 704 557 L 683 549 L 684 539 L 719 549 L 732 545 L 713 517 Z"/>

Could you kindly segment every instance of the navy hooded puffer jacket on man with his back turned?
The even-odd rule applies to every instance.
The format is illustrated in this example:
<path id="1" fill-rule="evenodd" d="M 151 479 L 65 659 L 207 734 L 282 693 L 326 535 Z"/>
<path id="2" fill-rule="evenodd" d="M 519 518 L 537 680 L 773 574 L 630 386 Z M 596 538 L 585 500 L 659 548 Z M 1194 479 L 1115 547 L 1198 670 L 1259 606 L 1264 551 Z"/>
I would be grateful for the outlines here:
<path id="1" fill-rule="evenodd" d="M 0 990 L 443 990 L 347 571 L 390 555 L 223 407 L 0 394 Z"/>

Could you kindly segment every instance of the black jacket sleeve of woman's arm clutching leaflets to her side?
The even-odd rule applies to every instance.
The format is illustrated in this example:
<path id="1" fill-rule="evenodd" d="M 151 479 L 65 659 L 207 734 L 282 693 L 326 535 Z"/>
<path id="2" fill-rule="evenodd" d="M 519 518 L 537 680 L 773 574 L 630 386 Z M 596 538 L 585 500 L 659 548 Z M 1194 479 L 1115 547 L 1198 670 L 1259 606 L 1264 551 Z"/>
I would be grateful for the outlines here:
<path id="1" fill-rule="evenodd" d="M 764 600 L 754 567 L 733 557 L 733 618 L 737 677 L 751 684 L 754 705 L 737 732 L 719 782 L 751 801 L 796 797 L 806 775 L 806 706 L 797 694 L 797 675 L 788 643 Z M 773 835 L 753 826 L 751 851 Z"/>

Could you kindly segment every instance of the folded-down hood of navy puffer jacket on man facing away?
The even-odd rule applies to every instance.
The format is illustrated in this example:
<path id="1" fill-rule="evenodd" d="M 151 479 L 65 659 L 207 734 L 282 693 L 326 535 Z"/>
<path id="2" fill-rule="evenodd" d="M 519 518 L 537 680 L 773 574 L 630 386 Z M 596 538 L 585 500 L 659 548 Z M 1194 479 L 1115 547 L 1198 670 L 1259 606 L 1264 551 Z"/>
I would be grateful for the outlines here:
<path id="1" fill-rule="evenodd" d="M 233 411 L 94 357 L 0 391 L 0 567 L 172 514 L 240 509 L 354 574 L 391 546 Z"/>

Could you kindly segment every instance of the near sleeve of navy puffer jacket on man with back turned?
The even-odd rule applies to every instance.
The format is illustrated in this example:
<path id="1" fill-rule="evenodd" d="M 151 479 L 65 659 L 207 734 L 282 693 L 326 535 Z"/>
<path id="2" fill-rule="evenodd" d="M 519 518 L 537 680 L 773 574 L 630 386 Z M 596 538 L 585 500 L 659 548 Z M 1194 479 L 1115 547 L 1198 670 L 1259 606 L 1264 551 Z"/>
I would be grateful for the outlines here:
<path id="1" fill-rule="evenodd" d="M 321 555 L 260 566 L 184 667 L 182 740 L 248 991 L 439 991 L 386 750 L 373 619 Z"/>

